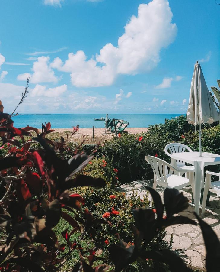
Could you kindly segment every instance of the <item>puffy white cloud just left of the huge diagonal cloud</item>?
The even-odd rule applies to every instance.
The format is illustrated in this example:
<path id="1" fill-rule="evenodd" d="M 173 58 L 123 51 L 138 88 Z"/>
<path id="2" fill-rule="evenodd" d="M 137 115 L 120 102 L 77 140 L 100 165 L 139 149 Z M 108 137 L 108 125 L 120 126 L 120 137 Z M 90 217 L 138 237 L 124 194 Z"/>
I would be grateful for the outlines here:
<path id="1" fill-rule="evenodd" d="M 24 73 L 17 76 L 18 80 L 27 80 L 30 76 L 31 83 L 41 82 L 57 82 L 58 78 L 55 76 L 54 71 L 49 66 L 49 57 L 38 57 L 37 61 L 33 63 L 33 74 Z"/>

